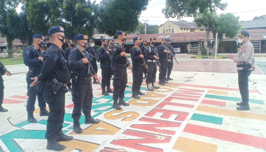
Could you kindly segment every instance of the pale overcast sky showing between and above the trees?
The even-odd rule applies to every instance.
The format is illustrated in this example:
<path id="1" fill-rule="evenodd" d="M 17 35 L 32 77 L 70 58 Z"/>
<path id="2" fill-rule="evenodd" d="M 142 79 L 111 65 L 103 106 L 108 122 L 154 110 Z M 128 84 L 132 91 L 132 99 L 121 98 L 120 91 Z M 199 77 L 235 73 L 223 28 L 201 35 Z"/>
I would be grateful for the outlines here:
<path id="1" fill-rule="evenodd" d="M 99 3 L 101 0 L 96 0 Z M 266 15 L 265 0 L 222 0 L 227 2 L 228 6 L 224 11 L 218 11 L 218 13 L 234 13 L 235 16 L 239 16 L 239 21 L 249 21 L 255 16 Z M 161 25 L 168 19 L 164 18 L 164 14 L 161 10 L 165 6 L 165 0 L 151 0 L 147 9 L 141 13 L 139 21 L 149 20 L 147 23 L 150 25 Z M 18 6 L 17 12 L 20 12 L 21 5 Z M 169 18 L 171 21 L 178 21 L 176 18 Z M 184 17 L 182 20 L 192 22 L 192 17 Z"/>

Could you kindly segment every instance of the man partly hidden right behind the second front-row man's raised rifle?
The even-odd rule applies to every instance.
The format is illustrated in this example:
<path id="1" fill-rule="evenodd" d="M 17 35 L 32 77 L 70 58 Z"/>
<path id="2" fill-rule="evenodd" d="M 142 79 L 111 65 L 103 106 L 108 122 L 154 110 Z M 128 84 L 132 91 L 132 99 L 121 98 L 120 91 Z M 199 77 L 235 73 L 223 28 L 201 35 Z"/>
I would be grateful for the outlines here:
<path id="1" fill-rule="evenodd" d="M 90 44 L 90 47 L 88 47 L 86 51 L 88 51 L 91 55 L 97 57 L 96 50 L 94 48 L 95 41 L 93 39 L 90 39 L 89 44 Z M 97 59 L 93 56 L 90 56 L 90 60 L 91 60 L 90 64 L 93 66 L 94 71 L 97 73 L 98 72 Z M 93 78 L 93 84 L 99 84 L 99 83 L 96 81 L 96 79 Z"/>

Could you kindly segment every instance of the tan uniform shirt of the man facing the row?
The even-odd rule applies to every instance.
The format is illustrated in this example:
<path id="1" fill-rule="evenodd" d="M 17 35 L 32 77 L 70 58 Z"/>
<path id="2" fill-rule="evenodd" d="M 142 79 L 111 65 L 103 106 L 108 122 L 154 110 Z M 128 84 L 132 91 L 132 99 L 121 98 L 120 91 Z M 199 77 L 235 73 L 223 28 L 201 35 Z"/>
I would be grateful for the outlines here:
<path id="1" fill-rule="evenodd" d="M 253 44 L 247 40 L 245 43 L 243 43 L 238 50 L 238 54 L 234 56 L 234 62 L 236 62 L 237 65 L 243 65 L 245 62 L 254 65 L 254 47 Z M 243 70 L 243 67 L 238 67 L 237 70 Z M 250 68 L 251 70 L 251 68 Z"/>

